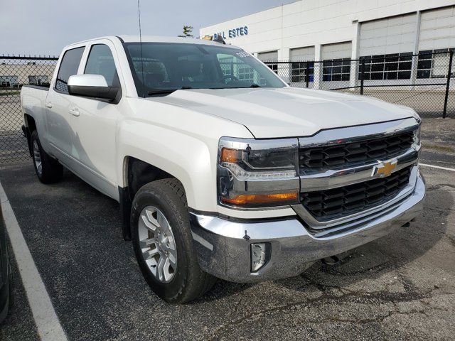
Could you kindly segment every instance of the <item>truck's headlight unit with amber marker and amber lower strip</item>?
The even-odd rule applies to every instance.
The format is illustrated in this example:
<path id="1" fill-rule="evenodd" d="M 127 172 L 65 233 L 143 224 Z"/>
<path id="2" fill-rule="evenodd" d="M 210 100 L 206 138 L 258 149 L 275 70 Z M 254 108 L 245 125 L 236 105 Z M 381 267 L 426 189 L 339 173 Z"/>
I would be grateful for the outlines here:
<path id="1" fill-rule="evenodd" d="M 252 208 L 298 202 L 298 146 L 297 139 L 220 139 L 220 204 Z"/>

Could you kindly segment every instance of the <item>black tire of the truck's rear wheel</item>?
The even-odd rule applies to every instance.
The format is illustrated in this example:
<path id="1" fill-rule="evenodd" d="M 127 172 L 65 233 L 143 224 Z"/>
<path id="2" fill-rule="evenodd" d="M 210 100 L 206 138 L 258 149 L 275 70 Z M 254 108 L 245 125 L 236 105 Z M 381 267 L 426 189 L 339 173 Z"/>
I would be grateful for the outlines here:
<path id="1" fill-rule="evenodd" d="M 57 160 L 51 158 L 41 146 L 40 139 L 38 138 L 38 131 L 34 130 L 30 136 L 30 144 L 33 158 L 33 166 L 35 167 L 36 176 L 41 183 L 56 183 L 63 177 L 63 166 Z M 36 151 L 36 146 L 38 151 Z M 41 171 L 38 166 L 38 158 L 36 153 L 39 153 L 41 158 Z"/>

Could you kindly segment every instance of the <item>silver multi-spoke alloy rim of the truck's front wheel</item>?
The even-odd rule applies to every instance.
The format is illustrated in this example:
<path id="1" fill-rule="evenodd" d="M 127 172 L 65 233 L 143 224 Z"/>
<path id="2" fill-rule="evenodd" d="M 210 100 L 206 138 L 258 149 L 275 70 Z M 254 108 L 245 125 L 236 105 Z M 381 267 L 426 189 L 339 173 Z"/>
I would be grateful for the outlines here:
<path id="1" fill-rule="evenodd" d="M 163 212 L 147 206 L 139 216 L 139 245 L 149 271 L 161 283 L 172 281 L 177 270 L 177 249 L 171 225 Z"/>

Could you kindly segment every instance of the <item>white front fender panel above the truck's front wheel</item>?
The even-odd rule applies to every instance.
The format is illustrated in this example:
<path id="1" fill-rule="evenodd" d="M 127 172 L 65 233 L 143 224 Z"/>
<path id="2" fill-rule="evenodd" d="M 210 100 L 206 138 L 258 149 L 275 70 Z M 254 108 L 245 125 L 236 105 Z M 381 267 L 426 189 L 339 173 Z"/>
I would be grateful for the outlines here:
<path id="1" fill-rule="evenodd" d="M 216 135 L 216 134 L 215 134 Z M 124 122 L 119 129 L 117 174 L 127 186 L 124 161 L 132 156 L 173 175 L 183 184 L 188 207 L 216 212 L 218 136 L 187 134 L 144 121 Z"/>

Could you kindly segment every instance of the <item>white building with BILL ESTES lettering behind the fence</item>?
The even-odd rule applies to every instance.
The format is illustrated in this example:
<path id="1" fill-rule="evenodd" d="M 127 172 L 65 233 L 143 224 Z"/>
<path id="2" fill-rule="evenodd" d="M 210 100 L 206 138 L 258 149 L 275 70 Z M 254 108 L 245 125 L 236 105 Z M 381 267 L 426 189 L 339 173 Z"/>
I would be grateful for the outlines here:
<path id="1" fill-rule="evenodd" d="M 264 61 L 324 60 L 269 65 L 291 83 L 308 67 L 311 86 L 356 85 L 359 65 L 350 60 L 359 58 L 367 58 L 366 82 L 436 82 L 448 53 L 412 55 L 455 48 L 455 1 L 300 0 L 200 28 L 201 37 L 218 34 Z"/>

